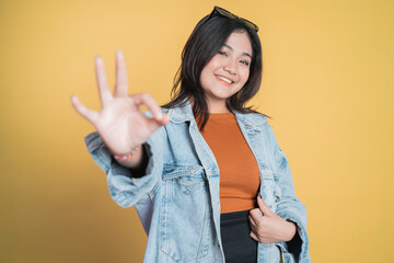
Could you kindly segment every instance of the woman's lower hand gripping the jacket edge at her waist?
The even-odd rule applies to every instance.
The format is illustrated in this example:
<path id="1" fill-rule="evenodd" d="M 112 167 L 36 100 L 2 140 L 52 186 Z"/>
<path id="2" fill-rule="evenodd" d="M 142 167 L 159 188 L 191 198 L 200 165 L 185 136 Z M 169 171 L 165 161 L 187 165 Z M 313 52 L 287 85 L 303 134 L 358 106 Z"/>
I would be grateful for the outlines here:
<path id="1" fill-rule="evenodd" d="M 250 211 L 251 237 L 262 243 L 290 241 L 296 235 L 296 225 L 273 213 L 260 196 L 257 204 L 258 208 Z"/>

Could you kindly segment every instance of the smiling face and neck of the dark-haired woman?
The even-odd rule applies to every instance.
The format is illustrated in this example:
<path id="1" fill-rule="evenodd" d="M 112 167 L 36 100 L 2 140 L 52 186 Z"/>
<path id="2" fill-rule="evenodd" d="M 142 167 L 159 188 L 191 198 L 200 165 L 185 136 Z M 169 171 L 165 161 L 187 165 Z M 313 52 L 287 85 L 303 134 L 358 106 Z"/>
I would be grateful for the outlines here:
<path id="1" fill-rule="evenodd" d="M 225 100 L 246 83 L 252 44 L 246 32 L 233 32 L 201 71 L 200 83 L 210 113 L 229 112 Z"/>

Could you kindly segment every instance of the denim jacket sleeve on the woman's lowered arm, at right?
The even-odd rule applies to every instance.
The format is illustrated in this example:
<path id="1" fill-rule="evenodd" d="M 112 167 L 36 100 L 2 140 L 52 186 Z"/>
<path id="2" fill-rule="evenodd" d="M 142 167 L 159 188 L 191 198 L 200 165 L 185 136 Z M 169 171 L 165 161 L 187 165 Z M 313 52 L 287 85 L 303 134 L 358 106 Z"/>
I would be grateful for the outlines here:
<path id="1" fill-rule="evenodd" d="M 297 226 L 297 233 L 289 242 L 281 242 L 279 247 L 283 250 L 286 262 L 311 262 L 309 255 L 309 238 L 306 232 L 306 209 L 296 196 L 292 175 L 288 160 L 280 149 L 274 132 L 268 123 L 268 138 L 271 141 L 274 162 L 276 163 L 277 184 L 281 197 L 277 203 L 276 214 L 281 218 L 292 221 Z"/>

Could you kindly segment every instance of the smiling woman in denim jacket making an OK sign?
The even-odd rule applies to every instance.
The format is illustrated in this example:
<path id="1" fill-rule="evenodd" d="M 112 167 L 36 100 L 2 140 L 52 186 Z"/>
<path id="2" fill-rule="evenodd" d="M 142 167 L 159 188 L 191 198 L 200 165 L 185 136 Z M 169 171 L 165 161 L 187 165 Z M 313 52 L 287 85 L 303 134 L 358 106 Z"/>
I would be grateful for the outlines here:
<path id="1" fill-rule="evenodd" d="M 97 129 L 85 141 L 112 197 L 140 216 L 144 262 L 310 261 L 287 159 L 267 117 L 245 107 L 262 80 L 257 31 L 216 7 L 187 41 L 162 108 L 149 94 L 127 95 L 120 52 L 114 96 L 95 60 L 100 113 L 72 98 Z"/>

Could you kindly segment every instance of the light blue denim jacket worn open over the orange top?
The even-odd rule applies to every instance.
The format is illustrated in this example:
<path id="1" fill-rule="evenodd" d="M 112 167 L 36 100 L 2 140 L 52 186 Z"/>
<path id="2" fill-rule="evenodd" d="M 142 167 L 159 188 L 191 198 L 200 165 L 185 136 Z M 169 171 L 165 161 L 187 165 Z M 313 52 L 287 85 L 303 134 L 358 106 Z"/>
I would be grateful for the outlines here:
<path id="1" fill-rule="evenodd" d="M 97 133 L 85 137 L 88 149 L 107 174 L 113 199 L 138 211 L 148 235 L 143 262 L 224 262 L 218 163 L 188 102 L 162 111 L 171 122 L 144 145 L 149 152 L 144 176 L 134 178 L 129 169 L 118 164 Z M 302 240 L 298 262 L 310 262 L 305 207 L 294 196 L 288 161 L 267 117 L 255 113 L 235 113 L 235 117 L 257 160 L 264 202 L 280 217 L 297 224 Z M 258 263 L 294 262 L 286 242 L 258 243 L 257 258 Z"/>

